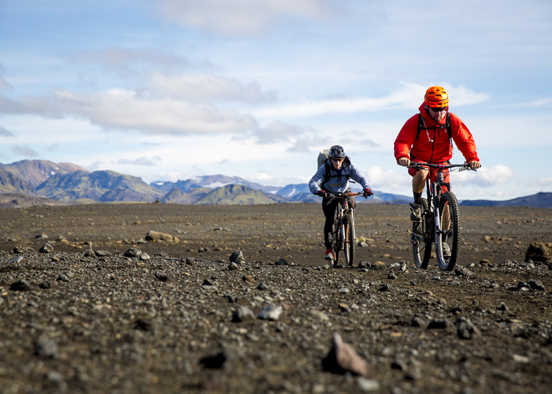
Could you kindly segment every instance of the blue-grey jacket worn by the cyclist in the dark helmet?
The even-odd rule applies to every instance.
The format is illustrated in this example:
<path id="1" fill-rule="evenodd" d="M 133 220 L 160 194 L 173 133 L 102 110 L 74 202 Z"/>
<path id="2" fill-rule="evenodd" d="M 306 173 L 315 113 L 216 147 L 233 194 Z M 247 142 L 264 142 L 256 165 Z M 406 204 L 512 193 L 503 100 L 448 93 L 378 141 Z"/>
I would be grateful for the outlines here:
<path id="1" fill-rule="evenodd" d="M 341 170 L 339 173 L 333 168 L 329 160 L 326 161 L 330 165 L 330 178 L 324 184 L 324 190 L 330 193 L 344 193 L 350 186 L 348 178 L 353 179 L 353 181 L 362 185 L 362 188 L 371 188 L 368 179 L 356 168 L 351 161 L 346 158 L 343 161 Z M 311 190 L 313 195 L 317 191 L 322 190 L 320 187 L 322 182 L 324 182 L 324 176 L 326 175 L 326 166 L 320 166 L 315 175 L 311 178 L 311 181 L 308 182 L 308 188 Z"/>

